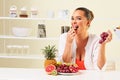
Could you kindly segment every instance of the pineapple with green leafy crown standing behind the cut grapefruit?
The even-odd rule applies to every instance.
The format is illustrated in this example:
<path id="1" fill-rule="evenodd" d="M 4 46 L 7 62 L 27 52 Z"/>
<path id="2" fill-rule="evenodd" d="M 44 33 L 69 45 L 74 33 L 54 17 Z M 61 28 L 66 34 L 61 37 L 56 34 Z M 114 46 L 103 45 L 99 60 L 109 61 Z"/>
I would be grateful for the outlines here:
<path id="1" fill-rule="evenodd" d="M 56 65 L 57 61 L 56 61 L 55 57 L 56 57 L 57 49 L 56 49 L 55 45 L 53 45 L 53 46 L 50 46 L 50 45 L 45 46 L 45 48 L 42 49 L 42 51 L 43 51 L 43 54 L 44 54 L 44 56 L 46 58 L 46 60 L 44 62 L 44 67 L 46 67 L 46 66 L 48 66 L 50 64 Z"/>

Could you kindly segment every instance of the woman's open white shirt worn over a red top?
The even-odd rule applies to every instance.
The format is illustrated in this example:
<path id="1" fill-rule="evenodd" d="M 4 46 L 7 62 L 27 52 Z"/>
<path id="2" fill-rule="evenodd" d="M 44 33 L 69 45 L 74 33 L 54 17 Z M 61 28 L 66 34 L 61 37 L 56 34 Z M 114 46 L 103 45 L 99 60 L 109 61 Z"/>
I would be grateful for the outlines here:
<path id="1" fill-rule="evenodd" d="M 62 60 L 62 55 L 65 49 L 65 44 L 66 44 L 66 38 L 67 38 L 67 33 L 64 33 L 60 36 L 60 41 L 59 41 L 59 60 L 63 62 Z M 73 40 L 72 44 L 72 54 L 73 54 L 73 62 L 75 63 L 76 59 L 76 40 Z M 97 59 L 98 59 L 98 50 L 99 50 L 99 37 L 97 37 L 94 34 L 89 34 L 89 39 L 87 42 L 87 45 L 85 47 L 85 59 L 84 59 L 84 64 L 85 68 L 87 70 L 99 70 L 97 66 Z"/>

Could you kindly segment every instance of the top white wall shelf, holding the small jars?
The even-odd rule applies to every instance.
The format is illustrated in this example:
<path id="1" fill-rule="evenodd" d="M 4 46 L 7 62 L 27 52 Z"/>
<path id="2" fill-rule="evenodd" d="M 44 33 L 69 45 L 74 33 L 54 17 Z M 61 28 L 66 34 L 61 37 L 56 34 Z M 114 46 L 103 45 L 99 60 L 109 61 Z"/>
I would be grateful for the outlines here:
<path id="1" fill-rule="evenodd" d="M 65 18 L 20 18 L 20 17 L 0 17 L 3 20 L 63 20 L 68 21 L 69 19 Z"/>

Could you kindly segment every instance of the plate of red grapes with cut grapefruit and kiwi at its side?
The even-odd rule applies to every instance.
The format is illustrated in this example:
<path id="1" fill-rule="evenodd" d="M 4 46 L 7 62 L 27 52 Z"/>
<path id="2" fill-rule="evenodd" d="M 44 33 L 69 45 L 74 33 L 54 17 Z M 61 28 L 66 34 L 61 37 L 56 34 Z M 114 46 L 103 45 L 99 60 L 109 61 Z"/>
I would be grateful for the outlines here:
<path id="1" fill-rule="evenodd" d="M 77 75 L 79 74 L 79 68 L 76 64 L 50 64 L 45 67 L 45 71 L 48 75 Z"/>

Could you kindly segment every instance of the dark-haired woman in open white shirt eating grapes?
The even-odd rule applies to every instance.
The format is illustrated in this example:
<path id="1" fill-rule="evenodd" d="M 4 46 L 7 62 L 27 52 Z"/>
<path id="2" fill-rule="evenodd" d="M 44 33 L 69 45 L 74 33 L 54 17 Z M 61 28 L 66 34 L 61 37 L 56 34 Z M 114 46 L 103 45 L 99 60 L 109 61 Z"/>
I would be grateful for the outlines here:
<path id="1" fill-rule="evenodd" d="M 77 8 L 71 17 L 72 28 L 60 36 L 59 58 L 66 63 L 76 63 L 81 70 L 102 69 L 105 64 L 105 46 L 111 41 L 112 33 L 99 43 L 99 37 L 89 34 L 88 29 L 93 20 L 92 11 L 87 8 Z"/>

